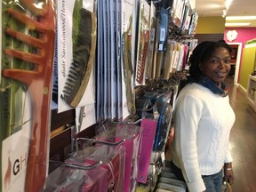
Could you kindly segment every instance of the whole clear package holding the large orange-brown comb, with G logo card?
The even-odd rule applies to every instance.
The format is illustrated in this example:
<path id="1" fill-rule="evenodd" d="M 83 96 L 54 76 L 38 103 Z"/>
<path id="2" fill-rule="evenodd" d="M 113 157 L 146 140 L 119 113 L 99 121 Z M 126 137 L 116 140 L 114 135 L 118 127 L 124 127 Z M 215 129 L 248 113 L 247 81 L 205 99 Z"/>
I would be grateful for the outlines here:
<path id="1" fill-rule="evenodd" d="M 4 0 L 1 191 L 38 191 L 47 173 L 55 4 Z"/>

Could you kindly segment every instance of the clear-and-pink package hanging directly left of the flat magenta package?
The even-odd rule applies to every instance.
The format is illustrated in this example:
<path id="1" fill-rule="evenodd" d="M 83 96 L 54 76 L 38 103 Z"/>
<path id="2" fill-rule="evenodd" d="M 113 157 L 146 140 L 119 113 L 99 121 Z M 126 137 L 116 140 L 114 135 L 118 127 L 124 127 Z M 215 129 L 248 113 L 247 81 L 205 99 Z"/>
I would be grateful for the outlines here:
<path id="1" fill-rule="evenodd" d="M 124 192 L 134 191 L 137 184 L 138 162 L 141 148 L 140 121 L 134 123 L 127 122 L 106 122 L 97 127 L 96 140 L 109 142 L 111 144 L 120 143 L 124 146 Z"/>

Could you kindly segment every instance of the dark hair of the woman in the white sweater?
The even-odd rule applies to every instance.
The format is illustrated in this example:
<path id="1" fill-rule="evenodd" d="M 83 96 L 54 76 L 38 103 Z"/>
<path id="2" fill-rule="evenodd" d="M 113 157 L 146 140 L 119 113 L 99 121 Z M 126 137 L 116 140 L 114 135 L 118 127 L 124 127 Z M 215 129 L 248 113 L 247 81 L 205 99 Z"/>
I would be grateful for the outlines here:
<path id="1" fill-rule="evenodd" d="M 213 52 L 219 47 L 226 48 L 231 55 L 231 47 L 224 41 L 220 40 L 218 42 L 204 41 L 196 46 L 192 54 L 189 57 L 189 75 L 198 80 L 201 76 L 201 71 L 199 68 L 200 63 L 204 63 L 212 57 Z"/>

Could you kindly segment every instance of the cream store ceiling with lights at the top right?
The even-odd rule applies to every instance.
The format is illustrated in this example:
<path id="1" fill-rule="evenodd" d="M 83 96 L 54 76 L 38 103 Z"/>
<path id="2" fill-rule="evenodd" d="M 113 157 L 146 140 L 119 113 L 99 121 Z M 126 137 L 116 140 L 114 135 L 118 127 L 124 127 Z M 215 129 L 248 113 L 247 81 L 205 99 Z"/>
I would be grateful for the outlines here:
<path id="1" fill-rule="evenodd" d="M 222 16 L 226 8 L 225 0 L 196 0 L 196 12 L 199 17 Z M 256 16 L 256 0 L 233 0 L 227 16 Z M 247 26 L 232 26 L 239 28 L 256 27 L 256 20 L 226 20 L 227 22 L 250 22 Z"/>

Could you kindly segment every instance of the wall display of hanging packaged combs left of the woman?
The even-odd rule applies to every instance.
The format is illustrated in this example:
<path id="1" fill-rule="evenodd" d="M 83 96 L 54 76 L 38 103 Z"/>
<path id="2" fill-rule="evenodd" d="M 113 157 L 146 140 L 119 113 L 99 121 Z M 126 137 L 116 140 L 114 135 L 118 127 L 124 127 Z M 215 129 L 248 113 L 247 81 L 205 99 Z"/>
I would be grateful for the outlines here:
<path id="1" fill-rule="evenodd" d="M 41 9 L 32 0 L 18 0 L 8 4 L 11 11 L 6 2 L 0 6 L 4 44 L 0 54 L 0 103 L 4 107 L 11 104 L 0 112 L 0 190 L 8 192 L 21 186 L 34 192 L 52 186 L 77 189 L 78 185 L 92 191 L 103 185 L 111 191 L 153 191 L 164 168 L 172 109 L 187 77 L 189 54 L 197 44 L 198 15 L 189 1 L 54 0 L 43 1 Z M 18 35 L 12 31 L 18 29 Z M 13 53 L 12 49 L 19 51 Z M 43 58 L 45 66 L 38 59 L 42 55 L 47 56 L 47 60 Z M 11 75 L 18 67 L 30 71 L 28 76 L 18 76 L 21 81 L 17 83 Z M 32 76 L 37 70 L 45 73 Z M 30 75 L 35 80 L 31 77 L 28 82 Z M 32 86 L 35 90 L 31 91 Z M 13 127 L 15 130 L 9 132 Z M 19 151 L 25 155 L 20 152 L 19 156 L 32 156 L 28 162 L 36 164 L 36 172 L 31 172 L 32 166 L 27 169 L 38 177 L 26 177 L 27 170 L 19 172 L 19 177 L 9 172 L 17 156 L 17 150 L 11 147 L 21 146 L 15 142 L 21 139 L 26 142 Z M 141 146 L 149 139 L 150 148 Z M 33 146 L 31 140 L 35 141 Z M 38 153 L 38 148 L 39 155 L 34 159 L 31 151 Z M 145 151 L 139 159 L 141 148 Z M 126 156 L 124 151 L 130 153 Z M 9 159 L 3 161 L 2 156 Z M 124 158 L 131 164 L 123 164 Z M 146 160 L 146 166 L 138 169 L 137 165 L 141 161 L 145 165 Z M 90 172 L 95 167 L 102 174 Z M 77 185 L 59 178 L 60 172 Z M 74 172 L 81 180 L 90 178 L 90 182 L 82 184 Z"/>

